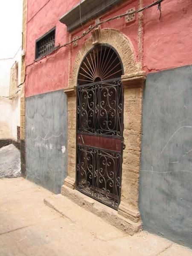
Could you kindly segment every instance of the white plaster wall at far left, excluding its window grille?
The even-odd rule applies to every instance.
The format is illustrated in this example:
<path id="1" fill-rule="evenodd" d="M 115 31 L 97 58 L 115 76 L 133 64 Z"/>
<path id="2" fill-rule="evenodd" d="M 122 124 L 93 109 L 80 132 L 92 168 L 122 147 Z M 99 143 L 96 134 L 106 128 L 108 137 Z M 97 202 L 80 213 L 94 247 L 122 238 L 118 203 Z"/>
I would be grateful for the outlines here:
<path id="1" fill-rule="evenodd" d="M 0 40 L 0 139 L 17 140 L 17 125 L 20 126 L 20 92 L 14 99 L 6 97 L 9 97 L 10 72 L 15 61 L 18 61 L 20 84 L 22 4 L 22 0 L 2 1 L 0 8 L 0 24 L 3 24 Z"/>

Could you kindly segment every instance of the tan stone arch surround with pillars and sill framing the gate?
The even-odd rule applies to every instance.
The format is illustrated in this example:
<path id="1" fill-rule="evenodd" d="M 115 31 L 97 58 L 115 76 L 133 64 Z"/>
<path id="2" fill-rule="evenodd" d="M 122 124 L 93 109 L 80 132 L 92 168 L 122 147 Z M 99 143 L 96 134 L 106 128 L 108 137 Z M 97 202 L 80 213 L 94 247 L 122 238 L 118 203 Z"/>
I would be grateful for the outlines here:
<path id="1" fill-rule="evenodd" d="M 123 95 L 122 95 L 122 97 L 123 97 L 122 98 L 123 99 L 122 100 L 123 115 L 122 116 L 124 116 L 124 120 L 123 120 L 123 129 L 122 130 L 123 130 L 124 140 L 120 140 L 121 141 L 120 147 L 122 147 L 122 141 L 123 141 L 123 163 L 122 163 L 122 149 L 121 149 L 121 151 L 111 151 L 111 149 L 108 149 L 108 152 L 112 152 L 114 154 L 114 156 L 115 156 L 115 154 L 120 155 L 120 160 L 122 163 L 122 170 L 120 169 L 120 172 L 122 172 L 122 174 L 120 173 L 118 176 L 119 181 L 120 181 L 119 182 L 119 190 L 116 193 L 116 195 L 118 195 L 118 196 L 115 195 L 115 196 L 111 197 L 111 195 L 110 195 L 111 190 L 109 189 L 109 192 L 107 191 L 106 194 L 104 195 L 104 197 L 102 197 L 100 199 L 96 198 L 98 193 L 93 194 L 94 190 L 91 190 L 94 183 L 91 184 L 90 181 L 86 180 L 83 176 L 81 179 L 82 186 L 83 185 L 85 185 L 85 186 L 84 186 L 84 188 L 82 187 L 82 189 L 86 189 L 87 187 L 88 188 L 84 192 L 81 190 L 81 192 L 83 192 L 86 195 L 90 195 L 92 198 L 102 201 L 102 203 L 110 205 L 111 207 L 113 207 L 115 209 L 117 209 L 117 207 L 118 207 L 118 211 L 116 212 L 116 211 L 113 211 L 112 209 L 109 210 L 108 207 L 105 207 L 105 205 L 101 205 L 98 202 L 95 202 L 94 200 L 90 200 L 89 197 L 84 196 L 84 194 L 82 194 L 81 192 L 79 192 L 75 189 L 78 186 L 78 178 L 79 178 L 77 176 L 77 167 L 78 167 L 77 161 L 78 161 L 78 157 L 79 157 L 77 155 L 77 153 L 78 153 L 77 152 L 77 144 L 79 144 L 80 146 L 84 146 L 84 145 L 87 145 L 88 143 L 92 143 L 90 138 L 96 137 L 95 135 L 99 135 L 98 136 L 98 137 L 100 137 L 100 139 L 98 139 L 99 143 L 100 143 L 100 140 L 104 141 L 104 139 L 106 139 L 105 142 L 103 142 L 105 146 L 106 145 L 110 146 L 112 141 L 116 142 L 118 140 L 118 137 L 115 137 L 114 134 L 113 135 L 106 134 L 106 133 L 105 134 L 103 134 L 103 133 L 94 134 L 93 132 L 84 134 L 82 131 L 78 131 L 78 125 L 76 125 L 76 123 L 79 122 L 78 121 L 78 113 L 76 111 L 76 106 L 79 105 L 79 103 L 77 102 L 78 101 L 77 94 L 79 94 L 78 89 L 81 87 L 84 87 L 84 89 L 85 89 L 85 87 L 87 87 L 87 88 L 91 87 L 91 86 L 93 86 L 93 84 L 99 85 L 99 84 L 103 84 L 103 83 L 104 83 L 104 87 L 105 87 L 105 86 L 107 86 L 106 84 L 109 83 L 108 80 L 107 80 L 108 82 L 106 80 L 100 81 L 100 79 L 99 79 L 100 76 L 99 77 L 93 76 L 93 71 L 94 71 L 93 64 L 91 66 L 93 71 L 90 74 L 92 76 L 92 79 L 88 79 L 88 81 L 81 81 L 81 82 L 79 80 L 79 79 L 87 80 L 86 77 L 83 78 L 82 76 L 80 76 L 80 73 L 83 72 L 82 73 L 83 75 L 86 75 L 86 76 L 89 75 L 89 72 L 87 71 L 87 69 L 84 68 L 84 67 L 86 67 L 86 65 L 82 66 L 83 61 L 86 60 L 86 57 L 88 58 L 88 56 L 89 56 L 88 59 L 89 59 L 89 61 L 91 61 L 90 55 L 92 56 L 93 63 L 94 63 L 94 61 L 96 61 L 96 65 L 94 67 L 97 67 L 97 59 L 99 60 L 99 58 L 97 58 L 97 55 L 96 55 L 96 47 L 93 48 L 93 40 L 92 40 L 93 38 L 91 38 L 91 37 L 88 38 L 84 42 L 83 46 L 79 49 L 79 52 L 76 55 L 76 58 L 73 62 L 72 70 L 69 68 L 69 72 L 71 70 L 71 73 L 69 76 L 68 87 L 64 88 L 64 92 L 67 94 L 67 102 L 68 102 L 68 145 L 67 145 L 68 176 L 65 178 L 64 185 L 61 187 L 61 194 L 64 196 L 67 196 L 68 198 L 70 198 L 71 200 L 76 202 L 76 204 L 79 204 L 79 205 L 83 206 L 84 208 L 86 208 L 87 210 L 94 212 L 96 215 L 99 215 L 99 216 L 102 215 L 102 218 L 105 218 L 106 221 L 110 222 L 111 224 L 115 225 L 116 227 L 119 227 L 121 230 L 124 230 L 124 231 L 128 232 L 129 234 L 134 234 L 142 228 L 141 220 L 140 220 L 140 212 L 139 212 L 139 208 L 138 208 L 138 195 L 139 195 L 140 152 L 141 152 L 141 134 L 142 134 L 142 130 L 141 130 L 142 125 L 141 124 L 142 124 L 143 84 L 144 84 L 144 81 L 146 78 L 146 74 L 141 69 L 141 64 L 136 61 L 136 57 L 134 55 L 134 48 L 133 48 L 129 38 L 127 38 L 125 35 L 123 35 L 121 32 L 119 32 L 116 29 L 101 29 L 100 32 L 101 32 L 100 38 L 99 38 L 100 44 L 97 44 L 96 47 L 101 47 L 101 45 L 102 45 L 103 46 L 102 49 L 104 49 L 104 50 L 105 50 L 105 46 L 110 47 L 111 50 L 115 49 L 114 52 L 118 56 L 119 62 L 120 63 L 122 62 L 122 64 L 123 64 L 123 65 L 121 64 L 121 66 L 123 66 L 121 78 L 118 77 L 120 75 L 120 73 L 117 72 L 116 74 L 114 74 L 116 71 L 118 71 L 118 70 L 114 71 L 115 68 L 112 70 L 112 68 L 114 66 L 109 68 L 110 71 L 112 70 L 111 73 L 113 73 L 114 76 L 108 77 L 108 78 L 106 78 L 106 77 L 102 78 L 102 79 L 111 80 L 111 84 L 112 84 L 112 81 L 115 84 L 117 84 L 117 81 L 119 81 L 120 87 L 122 88 L 122 86 L 123 86 Z M 113 47 L 114 47 L 114 49 L 113 49 Z M 95 49 L 95 51 L 94 51 L 94 53 L 96 55 L 95 60 L 93 58 L 93 56 L 94 56 L 93 52 L 89 55 L 89 53 L 93 49 Z M 106 49 L 106 51 L 107 51 L 107 49 Z M 118 54 L 117 54 L 117 52 L 118 52 Z M 101 50 L 99 50 L 99 48 L 98 48 L 98 56 L 99 56 L 99 53 L 101 54 L 103 52 L 101 52 Z M 110 53 L 109 53 L 109 55 L 110 55 Z M 101 63 L 102 63 L 102 60 L 105 61 L 106 57 L 107 57 L 107 55 L 105 54 L 104 60 L 103 60 L 103 58 L 101 59 Z M 99 63 L 100 62 L 98 62 L 98 67 L 100 67 Z M 103 62 L 103 63 L 105 63 L 105 62 Z M 110 61 L 110 63 L 111 63 L 111 61 Z M 72 62 L 71 62 L 71 64 L 72 64 Z M 86 62 L 86 64 L 87 64 L 87 67 L 89 67 L 89 69 L 90 69 L 88 62 Z M 80 69 L 80 67 L 84 68 L 84 70 L 86 70 L 88 74 L 86 72 L 84 72 L 82 70 L 82 68 Z M 119 66 L 117 66 L 117 67 L 119 67 Z M 100 70 L 102 70 L 102 69 L 100 68 Z M 88 77 L 90 78 L 90 76 L 88 76 Z M 113 84 L 113 87 L 115 87 L 114 84 Z M 95 99 L 97 99 L 97 98 L 95 98 Z M 100 100 L 101 100 L 101 98 L 100 98 Z M 90 102 L 91 102 L 91 99 L 90 99 Z M 90 103 L 90 102 L 88 102 L 88 103 Z M 82 103 L 84 103 L 84 102 L 82 102 Z M 79 105 L 79 106 L 81 106 L 81 105 Z M 95 106 L 95 105 L 93 105 L 93 106 Z M 96 111 L 97 111 L 97 108 L 96 108 Z M 96 113 L 96 112 L 93 111 L 93 113 Z M 111 118 L 111 116 L 110 116 L 110 118 Z M 84 121 L 84 117 L 83 117 L 82 121 Z M 89 120 L 87 120 L 87 121 L 89 121 Z M 106 120 L 104 119 L 104 121 L 106 121 Z M 111 121 L 111 120 L 108 120 L 108 121 Z M 86 128 L 86 126 L 85 126 L 85 128 Z M 102 131 L 102 129 L 101 129 L 101 131 Z M 79 135 L 79 137 L 77 135 Z M 84 143 L 83 143 L 83 141 L 81 141 L 82 140 L 81 135 L 83 137 Z M 88 143 L 87 143 L 87 140 L 85 140 L 85 138 L 86 138 L 85 136 L 89 136 Z M 122 134 L 119 136 L 119 138 L 123 139 Z M 111 143 L 109 143 L 109 141 L 108 141 L 109 139 L 111 139 L 110 140 Z M 85 144 L 85 143 L 87 143 L 87 144 Z M 95 141 L 94 141 L 94 143 L 95 143 Z M 89 151 L 89 153 L 87 153 L 87 151 L 86 151 L 83 156 L 85 159 L 86 159 L 86 157 L 88 158 L 85 161 L 85 163 L 87 166 L 88 166 L 88 164 L 90 164 L 89 169 L 91 172 L 92 172 L 92 164 L 89 161 L 90 161 L 91 157 L 93 156 L 93 159 L 95 159 L 94 160 L 95 162 L 93 161 L 94 165 L 96 165 L 96 163 L 98 163 L 97 158 L 95 158 L 94 150 L 98 150 L 98 148 L 100 147 L 100 145 L 96 145 L 96 144 L 94 144 L 94 145 L 95 146 L 93 146 L 92 144 L 87 145 L 87 148 L 88 147 L 92 148 L 93 152 Z M 97 149 L 95 149 L 95 148 L 97 148 Z M 98 157 L 98 151 L 96 152 L 96 156 Z M 109 157 L 110 157 L 110 154 L 109 154 Z M 113 159 L 113 157 L 111 157 L 111 161 L 112 161 L 112 159 Z M 116 159 L 117 159 L 117 157 L 116 157 Z M 81 163 L 84 163 L 84 162 L 81 161 Z M 110 163 L 107 163 L 107 164 L 110 165 Z M 94 165 L 93 165 L 93 167 L 94 167 Z M 87 173 L 87 170 L 88 170 L 87 167 L 84 167 L 84 169 L 86 170 L 86 173 Z M 97 168 L 97 170 L 98 169 L 99 168 Z M 85 177 L 86 177 L 86 175 L 85 175 Z M 83 180 L 85 180 L 85 183 L 83 182 Z M 101 182 L 102 182 L 102 180 L 101 180 Z M 99 184 L 98 180 L 97 180 L 96 185 L 97 184 Z M 110 186 L 110 188 L 111 188 L 111 186 Z M 100 192 L 100 190 L 99 190 L 99 192 Z M 91 193 L 92 193 L 92 195 L 91 195 Z M 121 199 L 121 201 L 120 201 L 120 199 Z M 105 202 L 105 200 L 106 200 L 106 202 Z M 120 201 L 120 204 L 119 204 L 119 201 Z M 118 206 L 118 204 L 119 204 L 119 206 Z"/>

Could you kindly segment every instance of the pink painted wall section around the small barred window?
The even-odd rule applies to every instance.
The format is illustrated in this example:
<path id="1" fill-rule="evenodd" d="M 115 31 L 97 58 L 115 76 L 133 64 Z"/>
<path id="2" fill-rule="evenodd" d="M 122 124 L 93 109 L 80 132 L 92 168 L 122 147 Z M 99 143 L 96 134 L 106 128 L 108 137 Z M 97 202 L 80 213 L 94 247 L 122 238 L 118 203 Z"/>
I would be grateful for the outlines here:
<path id="1" fill-rule="evenodd" d="M 47 5 L 45 5 L 46 3 Z M 35 40 L 54 26 L 56 26 L 55 46 L 68 41 L 67 28 L 59 22 L 59 18 L 77 3 L 79 3 L 79 0 L 28 0 L 26 65 L 31 64 L 35 60 Z M 42 6 L 44 7 L 42 8 Z M 48 55 L 47 59 L 44 58 L 39 63 L 28 67 L 26 70 L 25 96 L 32 96 L 66 87 L 68 81 L 67 67 L 67 47 L 59 49 L 54 54 Z"/>

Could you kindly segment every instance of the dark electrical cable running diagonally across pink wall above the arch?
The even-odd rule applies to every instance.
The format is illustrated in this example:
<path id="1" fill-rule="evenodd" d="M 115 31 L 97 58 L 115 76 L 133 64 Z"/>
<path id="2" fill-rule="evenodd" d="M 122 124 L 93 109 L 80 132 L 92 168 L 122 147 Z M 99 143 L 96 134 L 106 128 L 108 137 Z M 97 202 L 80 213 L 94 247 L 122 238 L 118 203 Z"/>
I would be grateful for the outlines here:
<path id="1" fill-rule="evenodd" d="M 50 1 L 50 0 L 49 0 Z M 49 2 L 48 1 L 48 2 Z M 48 3 L 47 2 L 47 3 Z M 148 8 L 151 8 L 151 7 L 153 7 L 153 6 L 156 6 L 156 5 L 158 5 L 158 10 L 160 11 L 160 17 L 161 17 L 161 8 L 160 8 L 160 4 L 161 4 L 161 2 L 163 2 L 163 0 L 157 0 L 157 1 L 155 1 L 154 3 L 151 3 L 151 4 L 149 4 L 149 5 L 147 5 L 147 6 L 145 6 L 145 7 L 143 7 L 143 8 L 140 8 L 140 9 L 137 9 L 137 10 L 135 10 L 135 11 L 133 11 L 133 12 L 129 12 L 129 13 L 123 13 L 123 14 L 120 14 L 120 15 L 116 15 L 116 16 L 113 16 L 113 17 L 111 17 L 111 18 L 108 18 L 108 19 L 106 19 L 106 20 L 102 20 L 102 21 L 100 21 L 99 23 L 97 23 L 97 24 L 95 24 L 94 26 L 89 26 L 89 28 L 86 30 L 86 31 L 84 31 L 83 33 L 82 33 L 82 35 L 81 36 L 78 36 L 78 37 L 76 37 L 75 39 L 73 39 L 73 40 L 71 40 L 71 41 L 69 41 L 69 42 L 67 42 L 67 43 L 65 43 L 65 44 L 62 44 L 61 46 L 58 46 L 58 47 L 55 47 L 55 49 L 53 49 L 52 50 L 52 52 L 50 52 L 49 53 L 49 55 L 51 55 L 51 54 L 53 54 L 55 51 L 58 51 L 58 49 L 61 49 L 62 47 L 67 47 L 69 44 L 72 44 L 73 42 L 75 42 L 75 41 L 79 41 L 81 38 L 83 38 L 85 35 L 88 35 L 93 29 L 95 29 L 96 27 L 98 27 L 98 26 L 100 26 L 100 25 L 102 25 L 102 24 L 104 24 L 104 23 L 107 23 L 107 22 L 109 22 L 109 21 L 111 21 L 111 20 L 115 20 L 115 19 L 120 19 L 121 17 L 124 17 L 124 16 L 127 16 L 127 15 L 133 15 L 133 14 L 136 14 L 136 13 L 139 13 L 139 12 L 143 12 L 144 10 L 146 10 L 146 9 L 148 9 Z M 46 4 L 47 4 L 46 3 Z M 45 4 L 45 5 L 46 5 Z M 44 6 L 45 6 L 44 5 Z M 43 6 L 43 7 L 44 7 Z M 43 8 L 42 7 L 42 8 Z M 41 8 L 41 9 L 42 9 Z M 80 9 L 81 10 L 81 9 Z M 39 10 L 40 11 L 40 10 Z M 80 16 L 81 17 L 81 16 Z M 28 21 L 29 22 L 29 21 Z M 81 24 L 82 25 L 82 24 Z M 40 60 L 42 60 L 43 58 L 47 58 L 47 56 L 43 56 L 41 59 L 39 59 L 38 61 L 33 61 L 31 64 L 28 64 L 28 65 L 26 65 L 26 67 L 25 67 L 25 77 L 24 77 L 24 80 L 23 80 L 23 82 L 22 83 L 20 83 L 19 85 L 18 85 L 18 87 L 20 87 L 22 84 L 24 84 L 25 83 L 25 81 L 26 81 L 26 76 L 27 76 L 27 74 L 26 74 L 26 68 L 27 67 L 30 67 L 30 66 L 32 66 L 33 64 L 35 64 L 36 62 L 39 62 Z"/>

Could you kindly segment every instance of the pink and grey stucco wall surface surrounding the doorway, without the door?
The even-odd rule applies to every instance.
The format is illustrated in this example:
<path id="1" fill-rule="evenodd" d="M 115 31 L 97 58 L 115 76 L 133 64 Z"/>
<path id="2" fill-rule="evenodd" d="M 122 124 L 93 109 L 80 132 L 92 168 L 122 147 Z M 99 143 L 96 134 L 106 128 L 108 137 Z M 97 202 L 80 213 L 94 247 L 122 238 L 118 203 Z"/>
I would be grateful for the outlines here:
<path id="1" fill-rule="evenodd" d="M 144 0 L 143 6 L 152 2 Z M 58 46 L 95 23 L 92 20 L 67 32 L 59 18 L 77 3 L 79 0 L 28 0 L 26 65 L 34 62 L 35 40 L 54 26 Z M 133 7 L 139 9 L 142 1 L 125 1 L 100 20 Z M 131 23 L 125 23 L 123 17 L 101 28 L 117 29 L 128 37 L 135 60 L 148 74 L 140 168 L 143 227 L 190 245 L 192 5 L 191 0 L 163 0 L 161 8 L 160 19 L 154 6 L 143 15 L 136 14 Z M 68 87 L 75 58 L 89 37 L 81 39 L 77 47 L 61 48 L 26 69 L 26 174 L 55 193 L 60 193 L 67 176 L 67 97 L 62 89 Z"/>

